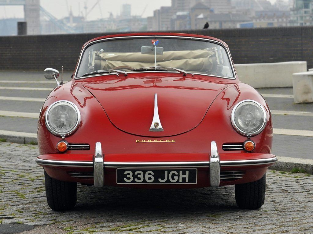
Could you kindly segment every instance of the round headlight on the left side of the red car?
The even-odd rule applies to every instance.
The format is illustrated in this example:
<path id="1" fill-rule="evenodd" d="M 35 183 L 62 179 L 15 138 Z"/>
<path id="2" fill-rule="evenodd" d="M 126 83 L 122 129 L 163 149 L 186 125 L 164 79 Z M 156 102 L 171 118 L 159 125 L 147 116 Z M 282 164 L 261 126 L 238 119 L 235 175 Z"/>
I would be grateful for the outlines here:
<path id="1" fill-rule="evenodd" d="M 49 106 L 45 122 L 48 130 L 58 136 L 72 134 L 80 124 L 80 111 L 66 100 L 56 101 Z"/>

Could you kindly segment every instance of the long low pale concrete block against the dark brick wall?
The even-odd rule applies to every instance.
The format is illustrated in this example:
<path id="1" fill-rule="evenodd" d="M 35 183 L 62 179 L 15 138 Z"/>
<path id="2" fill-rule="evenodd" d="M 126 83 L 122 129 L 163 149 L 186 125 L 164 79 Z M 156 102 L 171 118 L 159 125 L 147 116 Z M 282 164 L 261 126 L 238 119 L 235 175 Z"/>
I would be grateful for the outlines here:
<path id="1" fill-rule="evenodd" d="M 235 64 L 239 80 L 254 88 L 292 87 L 292 74 L 305 72 L 306 62 Z"/>

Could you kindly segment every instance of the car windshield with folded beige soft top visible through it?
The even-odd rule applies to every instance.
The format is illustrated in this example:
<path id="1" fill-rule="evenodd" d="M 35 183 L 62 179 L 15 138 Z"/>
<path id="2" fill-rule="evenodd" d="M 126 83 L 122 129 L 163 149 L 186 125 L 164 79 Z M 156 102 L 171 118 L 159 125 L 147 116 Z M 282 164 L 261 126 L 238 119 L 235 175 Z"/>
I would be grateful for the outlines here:
<path id="1" fill-rule="evenodd" d="M 92 44 L 84 50 L 77 77 L 110 69 L 139 72 L 143 71 L 139 68 L 151 66 L 234 77 L 223 46 L 208 41 L 163 37 L 112 39 Z M 152 69 L 146 69 L 149 70 Z"/>

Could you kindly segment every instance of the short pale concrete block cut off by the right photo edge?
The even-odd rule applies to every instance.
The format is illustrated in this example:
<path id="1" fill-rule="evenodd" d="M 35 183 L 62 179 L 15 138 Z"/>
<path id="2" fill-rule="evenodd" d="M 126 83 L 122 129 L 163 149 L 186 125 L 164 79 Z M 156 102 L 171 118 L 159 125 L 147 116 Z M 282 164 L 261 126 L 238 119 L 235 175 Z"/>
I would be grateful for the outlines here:
<path id="1" fill-rule="evenodd" d="M 313 71 L 292 74 L 294 102 L 313 102 Z"/>

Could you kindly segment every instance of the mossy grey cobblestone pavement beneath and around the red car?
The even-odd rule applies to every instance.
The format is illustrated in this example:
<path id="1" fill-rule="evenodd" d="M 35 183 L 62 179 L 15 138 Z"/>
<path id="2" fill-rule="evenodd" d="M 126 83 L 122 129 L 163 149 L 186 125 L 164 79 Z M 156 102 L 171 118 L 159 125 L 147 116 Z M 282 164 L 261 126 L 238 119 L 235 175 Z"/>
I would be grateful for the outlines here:
<path id="1" fill-rule="evenodd" d="M 47 205 L 37 146 L 0 143 L 0 233 L 6 224 L 30 233 L 312 233 L 313 176 L 267 172 L 264 206 L 240 210 L 234 187 L 141 190 L 79 186 L 76 207 Z M 48 226 L 49 225 L 49 226 Z M 5 232 L 3 232 L 5 233 Z"/>

